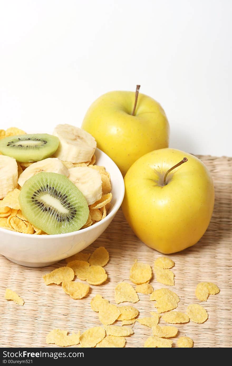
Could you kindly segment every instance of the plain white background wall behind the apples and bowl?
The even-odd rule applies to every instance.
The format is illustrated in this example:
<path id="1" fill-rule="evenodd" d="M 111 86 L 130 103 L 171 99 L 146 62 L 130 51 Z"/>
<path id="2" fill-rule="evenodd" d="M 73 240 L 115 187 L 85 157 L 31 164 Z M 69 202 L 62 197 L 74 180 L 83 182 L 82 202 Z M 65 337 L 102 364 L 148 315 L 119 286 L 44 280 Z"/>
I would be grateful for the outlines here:
<path id="1" fill-rule="evenodd" d="M 158 100 L 170 146 L 232 156 L 230 0 L 2 0 L 0 128 L 81 125 L 110 90 Z"/>

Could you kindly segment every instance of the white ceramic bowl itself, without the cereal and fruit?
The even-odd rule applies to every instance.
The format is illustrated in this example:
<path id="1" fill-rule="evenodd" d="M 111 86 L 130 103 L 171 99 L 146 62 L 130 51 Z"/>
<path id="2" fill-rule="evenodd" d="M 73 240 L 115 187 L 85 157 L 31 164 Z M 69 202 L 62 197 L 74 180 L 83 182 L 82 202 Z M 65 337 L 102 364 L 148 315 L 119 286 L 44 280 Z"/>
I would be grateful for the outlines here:
<path id="1" fill-rule="evenodd" d="M 96 149 L 96 164 L 110 173 L 111 209 L 105 219 L 79 231 L 59 235 L 31 235 L 0 228 L 0 253 L 10 261 L 27 267 L 43 267 L 70 257 L 92 244 L 108 227 L 124 198 L 125 186 L 117 165 Z"/>

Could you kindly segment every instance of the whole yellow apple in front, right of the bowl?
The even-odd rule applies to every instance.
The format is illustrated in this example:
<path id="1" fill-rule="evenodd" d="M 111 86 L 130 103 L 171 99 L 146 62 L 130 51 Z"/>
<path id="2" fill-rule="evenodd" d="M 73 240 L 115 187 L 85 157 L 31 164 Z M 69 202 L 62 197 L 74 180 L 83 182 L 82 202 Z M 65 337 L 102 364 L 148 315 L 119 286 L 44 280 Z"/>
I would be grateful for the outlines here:
<path id="1" fill-rule="evenodd" d="M 213 213 L 214 186 L 206 166 L 195 156 L 175 149 L 152 151 L 130 167 L 124 181 L 122 210 L 149 247 L 175 253 L 205 233 Z"/>

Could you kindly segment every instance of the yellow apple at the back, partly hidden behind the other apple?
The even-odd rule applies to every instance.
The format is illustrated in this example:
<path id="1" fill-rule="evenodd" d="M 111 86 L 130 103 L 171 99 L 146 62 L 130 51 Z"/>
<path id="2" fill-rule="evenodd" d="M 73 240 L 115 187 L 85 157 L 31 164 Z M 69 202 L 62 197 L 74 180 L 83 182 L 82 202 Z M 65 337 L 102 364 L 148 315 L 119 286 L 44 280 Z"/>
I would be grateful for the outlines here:
<path id="1" fill-rule="evenodd" d="M 139 157 L 169 144 L 169 123 L 163 108 L 144 94 L 139 93 L 136 100 L 136 90 L 136 94 L 104 94 L 89 107 L 82 123 L 82 128 L 93 135 L 97 147 L 114 160 L 122 175 Z"/>

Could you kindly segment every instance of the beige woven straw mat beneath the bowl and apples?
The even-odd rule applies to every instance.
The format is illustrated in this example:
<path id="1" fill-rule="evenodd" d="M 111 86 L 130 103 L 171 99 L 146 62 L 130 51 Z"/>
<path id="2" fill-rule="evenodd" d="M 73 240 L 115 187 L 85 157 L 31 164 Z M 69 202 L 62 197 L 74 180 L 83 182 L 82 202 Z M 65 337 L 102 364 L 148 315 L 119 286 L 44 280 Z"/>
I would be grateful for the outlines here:
<path id="1" fill-rule="evenodd" d="M 180 297 L 176 310 L 185 311 L 190 303 L 200 303 L 195 297 L 195 288 L 200 281 L 212 281 L 220 288 L 220 293 L 209 296 L 201 303 L 209 314 L 203 324 L 189 322 L 178 324 L 178 336 L 189 336 L 194 347 L 231 347 L 232 344 L 232 158 L 199 156 L 211 171 L 215 184 L 216 201 L 214 213 L 203 238 L 193 247 L 170 257 L 175 261 L 173 272 L 175 286 L 169 287 Z M 45 343 L 47 333 L 54 329 L 81 332 L 91 326 L 101 325 L 97 313 L 91 310 L 90 300 L 101 294 L 114 303 L 115 285 L 129 279 L 129 269 L 134 259 L 149 263 L 160 254 L 144 245 L 133 234 L 119 210 L 108 229 L 86 252 L 105 246 L 110 253 L 110 261 L 105 269 L 106 283 L 91 286 L 85 299 L 73 300 L 58 285 L 45 286 L 42 275 L 59 264 L 47 268 L 26 268 L 16 265 L 0 255 L 0 346 L 1 347 L 53 347 Z M 151 280 L 154 289 L 166 287 Z M 16 291 L 24 300 L 24 306 L 4 300 L 5 288 Z M 154 303 L 149 295 L 139 294 L 140 301 L 135 307 L 140 317 L 149 316 L 154 311 Z M 121 305 L 131 305 L 122 303 Z M 160 324 L 165 324 L 160 321 Z M 133 326 L 134 334 L 126 337 L 126 347 L 143 347 L 151 335 L 151 329 Z M 176 347 L 176 338 L 173 347 Z"/>

